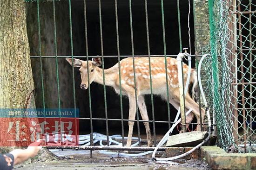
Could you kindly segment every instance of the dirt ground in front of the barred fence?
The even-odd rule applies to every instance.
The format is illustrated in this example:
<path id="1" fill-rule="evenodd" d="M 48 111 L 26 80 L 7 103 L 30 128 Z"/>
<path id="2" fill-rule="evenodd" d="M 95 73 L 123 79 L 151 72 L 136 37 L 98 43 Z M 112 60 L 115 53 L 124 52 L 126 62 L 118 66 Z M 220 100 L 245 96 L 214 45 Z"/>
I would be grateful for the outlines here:
<path id="1" fill-rule="evenodd" d="M 175 162 L 155 162 L 151 155 L 143 157 L 117 157 L 105 155 L 100 151 L 55 150 L 55 160 L 27 161 L 14 167 L 14 170 L 209 170 L 202 160 L 179 159 Z"/>

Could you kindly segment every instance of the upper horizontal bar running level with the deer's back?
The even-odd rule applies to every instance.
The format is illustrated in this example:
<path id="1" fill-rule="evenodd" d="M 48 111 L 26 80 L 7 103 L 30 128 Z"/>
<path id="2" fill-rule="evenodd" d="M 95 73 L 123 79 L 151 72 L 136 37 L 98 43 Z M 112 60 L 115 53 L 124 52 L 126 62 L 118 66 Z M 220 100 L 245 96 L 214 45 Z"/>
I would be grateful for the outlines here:
<path id="1" fill-rule="evenodd" d="M 166 55 L 167 57 L 177 57 L 177 55 Z M 197 55 L 199 57 L 202 57 L 202 55 Z M 31 58 L 39 58 L 40 56 L 30 56 Z M 55 58 L 56 56 L 41 56 L 42 58 Z M 65 57 L 71 57 L 71 56 L 57 56 L 59 58 L 65 58 Z M 86 58 L 87 56 L 74 56 L 75 58 Z M 92 57 L 99 57 L 99 56 L 88 56 L 90 58 Z M 106 58 L 117 58 L 118 56 L 103 56 Z M 133 56 L 120 56 L 121 58 L 125 57 L 133 57 Z M 148 57 L 148 55 L 140 55 L 135 57 Z M 150 57 L 164 57 L 164 55 L 150 55 Z M 191 55 L 191 57 L 195 57 L 195 55 Z"/>

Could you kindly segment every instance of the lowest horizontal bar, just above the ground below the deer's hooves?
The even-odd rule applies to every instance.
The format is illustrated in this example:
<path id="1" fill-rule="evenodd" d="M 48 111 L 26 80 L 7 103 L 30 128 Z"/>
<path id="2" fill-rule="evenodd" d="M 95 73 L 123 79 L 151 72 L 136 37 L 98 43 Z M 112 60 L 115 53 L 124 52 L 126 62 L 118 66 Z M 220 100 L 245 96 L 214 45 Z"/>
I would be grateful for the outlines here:
<path id="1" fill-rule="evenodd" d="M 154 151 L 155 147 L 127 147 L 127 146 L 45 146 L 47 149 L 74 150 L 111 150 L 111 151 Z M 160 147 L 158 151 L 165 151 L 168 147 Z"/>

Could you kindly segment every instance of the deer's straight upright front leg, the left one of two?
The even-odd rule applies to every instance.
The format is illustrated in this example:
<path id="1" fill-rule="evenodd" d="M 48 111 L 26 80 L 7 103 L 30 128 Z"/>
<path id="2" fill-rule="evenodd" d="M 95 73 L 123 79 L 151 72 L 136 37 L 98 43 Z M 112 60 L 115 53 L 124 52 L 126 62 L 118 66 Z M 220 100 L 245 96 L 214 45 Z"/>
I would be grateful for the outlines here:
<path id="1" fill-rule="evenodd" d="M 135 113 L 136 113 L 136 101 L 135 101 L 135 95 L 129 95 L 129 120 L 135 120 Z M 132 144 L 132 136 L 133 136 L 133 126 L 134 126 L 134 121 L 129 121 L 129 132 L 128 132 L 128 139 L 126 146 L 131 146 Z"/>

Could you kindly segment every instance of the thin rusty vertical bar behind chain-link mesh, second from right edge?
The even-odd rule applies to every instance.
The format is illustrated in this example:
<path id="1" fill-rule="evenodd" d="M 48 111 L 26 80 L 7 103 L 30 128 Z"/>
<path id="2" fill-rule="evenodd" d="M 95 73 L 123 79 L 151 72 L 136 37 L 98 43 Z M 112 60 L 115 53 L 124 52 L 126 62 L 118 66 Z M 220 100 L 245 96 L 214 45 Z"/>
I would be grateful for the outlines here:
<path id="1" fill-rule="evenodd" d="M 239 47 L 240 47 L 240 60 L 241 60 L 241 74 L 243 73 L 243 39 L 242 39 L 242 21 L 241 21 L 241 6 L 240 6 L 241 2 L 239 1 L 238 3 L 238 28 L 239 28 Z M 243 79 L 244 75 L 241 75 L 241 81 L 242 81 L 242 84 L 244 83 L 244 79 Z M 246 153 L 246 117 L 245 117 L 245 101 L 244 101 L 244 87 L 242 85 L 242 104 L 243 104 L 243 109 L 242 109 L 242 112 L 243 112 L 243 141 L 244 141 L 244 152 Z"/>

